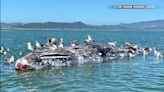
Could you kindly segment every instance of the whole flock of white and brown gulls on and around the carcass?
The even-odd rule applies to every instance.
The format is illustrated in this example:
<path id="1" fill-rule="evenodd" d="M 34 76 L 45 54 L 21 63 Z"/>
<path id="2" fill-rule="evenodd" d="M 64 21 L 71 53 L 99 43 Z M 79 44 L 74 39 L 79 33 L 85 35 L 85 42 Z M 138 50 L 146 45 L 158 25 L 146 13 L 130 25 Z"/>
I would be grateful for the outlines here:
<path id="1" fill-rule="evenodd" d="M 87 35 L 87 37 L 88 37 L 88 39 L 85 39 L 85 41 L 84 41 L 85 43 L 95 42 L 95 40 L 92 39 L 90 37 L 90 35 Z M 30 51 L 32 51 L 32 53 L 34 53 L 34 51 L 41 50 L 42 47 L 46 48 L 46 49 L 50 49 L 50 50 L 57 50 L 57 49 L 62 49 L 63 48 L 63 45 L 64 45 L 63 38 L 61 38 L 60 40 L 56 39 L 56 38 L 52 38 L 52 39 L 50 39 L 48 37 L 44 37 L 44 38 L 48 39 L 47 43 L 41 44 L 38 41 L 36 41 L 36 47 L 34 47 L 34 46 L 31 46 L 30 42 L 28 42 L 27 43 L 28 49 Z M 60 43 L 57 44 L 56 41 L 60 41 Z M 78 45 L 77 42 L 78 42 L 78 40 L 73 40 L 71 42 L 71 46 L 77 46 Z M 116 41 L 114 41 L 114 42 L 107 42 L 107 44 L 110 45 L 110 46 L 116 47 L 117 42 Z M 155 42 L 153 42 L 152 44 L 155 44 Z M 147 56 L 151 51 L 154 51 L 154 55 L 156 55 L 157 58 L 163 58 L 163 56 L 164 56 L 164 53 L 160 53 L 160 50 L 157 51 L 155 49 L 155 47 L 150 47 L 149 49 L 147 47 L 146 48 L 142 48 L 140 44 L 136 44 L 136 45 L 133 46 L 129 42 L 124 42 L 124 45 L 127 46 L 126 47 L 127 49 L 130 49 L 130 52 L 128 53 L 129 57 L 136 57 L 137 54 L 135 53 L 135 51 L 138 50 L 138 49 L 143 51 L 143 55 L 144 56 Z M 123 48 L 122 45 L 121 45 L 121 48 Z M 3 54 L 4 57 L 5 57 L 7 55 L 7 53 L 9 53 L 10 50 L 9 50 L 9 48 L 7 48 L 6 51 L 4 51 L 4 52 L 3 51 L 4 51 L 4 48 L 1 47 L 0 54 Z M 20 51 L 19 55 L 24 55 L 24 52 Z M 14 62 L 14 56 L 12 55 L 10 58 L 8 58 L 7 62 L 9 64 L 13 63 Z"/>

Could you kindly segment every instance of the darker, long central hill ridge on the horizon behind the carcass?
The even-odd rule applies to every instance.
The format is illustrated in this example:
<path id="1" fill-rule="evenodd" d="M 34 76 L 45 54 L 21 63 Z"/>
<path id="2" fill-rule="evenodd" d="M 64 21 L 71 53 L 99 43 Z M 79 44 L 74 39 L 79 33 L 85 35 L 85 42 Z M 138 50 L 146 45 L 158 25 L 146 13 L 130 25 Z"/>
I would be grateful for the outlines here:
<path id="1" fill-rule="evenodd" d="M 12 28 L 48 28 L 48 29 L 118 29 L 126 30 L 128 28 L 122 26 L 93 26 L 87 25 L 82 22 L 73 22 L 73 23 L 59 23 L 59 22 L 46 22 L 46 23 L 27 23 L 21 25 L 12 26 Z"/>

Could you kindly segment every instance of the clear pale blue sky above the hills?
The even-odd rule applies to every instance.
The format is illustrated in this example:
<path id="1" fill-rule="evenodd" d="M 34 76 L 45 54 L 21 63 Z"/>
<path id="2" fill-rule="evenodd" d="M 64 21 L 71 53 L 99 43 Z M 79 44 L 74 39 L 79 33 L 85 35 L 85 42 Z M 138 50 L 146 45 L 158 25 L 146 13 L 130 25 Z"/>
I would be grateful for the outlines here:
<path id="1" fill-rule="evenodd" d="M 112 9 L 156 5 L 156 9 Z M 164 0 L 1 0 L 1 22 L 75 22 L 111 25 L 164 19 Z"/>

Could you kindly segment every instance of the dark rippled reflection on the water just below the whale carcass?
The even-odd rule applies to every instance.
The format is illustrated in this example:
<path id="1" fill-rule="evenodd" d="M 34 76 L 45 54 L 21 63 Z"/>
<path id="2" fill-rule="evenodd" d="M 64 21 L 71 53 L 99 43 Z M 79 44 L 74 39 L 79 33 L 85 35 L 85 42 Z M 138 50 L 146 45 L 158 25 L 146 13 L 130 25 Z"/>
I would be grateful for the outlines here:
<path id="1" fill-rule="evenodd" d="M 47 76 L 53 75 L 54 78 L 63 78 L 65 77 L 65 73 L 68 74 L 68 72 L 70 72 L 70 74 L 77 72 L 77 75 L 86 75 L 86 73 L 95 73 L 96 72 L 95 70 L 98 70 L 98 68 L 101 67 L 103 64 L 105 65 L 109 64 L 110 67 L 108 68 L 113 69 L 116 66 L 115 60 L 117 60 L 118 63 L 119 59 L 113 59 L 113 60 L 104 60 L 103 62 L 99 62 L 99 63 L 87 62 L 83 64 L 74 64 L 71 66 L 55 66 L 55 67 L 38 69 L 38 70 L 15 70 L 15 76 L 36 77 L 36 76 L 44 76 L 44 75 Z M 72 75 L 70 75 L 69 77 L 71 76 Z"/>

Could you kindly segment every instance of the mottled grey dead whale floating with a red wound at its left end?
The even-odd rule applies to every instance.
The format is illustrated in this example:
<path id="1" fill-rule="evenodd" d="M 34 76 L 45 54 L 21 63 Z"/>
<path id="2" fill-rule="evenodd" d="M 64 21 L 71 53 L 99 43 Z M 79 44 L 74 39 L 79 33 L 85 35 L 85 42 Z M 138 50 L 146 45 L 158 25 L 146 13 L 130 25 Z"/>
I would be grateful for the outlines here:
<path id="1" fill-rule="evenodd" d="M 16 69 L 41 69 L 51 66 L 66 66 L 75 63 L 101 62 L 107 59 L 115 59 L 128 56 L 130 50 L 105 45 L 82 44 L 67 46 L 58 50 L 44 49 L 29 53 L 18 59 Z M 137 50 L 135 53 L 142 54 Z"/>

